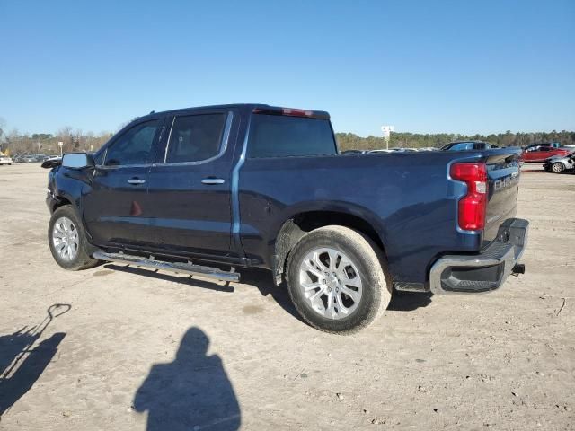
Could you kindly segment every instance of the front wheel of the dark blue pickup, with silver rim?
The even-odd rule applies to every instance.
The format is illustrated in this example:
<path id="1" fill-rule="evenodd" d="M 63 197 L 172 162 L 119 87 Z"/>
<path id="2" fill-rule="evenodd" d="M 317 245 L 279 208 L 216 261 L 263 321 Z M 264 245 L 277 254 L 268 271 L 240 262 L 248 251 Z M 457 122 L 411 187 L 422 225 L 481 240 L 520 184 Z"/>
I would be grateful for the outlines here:
<path id="1" fill-rule="evenodd" d="M 70 271 L 93 268 L 99 260 L 92 259 L 93 247 L 87 242 L 84 227 L 69 205 L 58 207 L 48 224 L 48 243 L 56 263 Z"/>

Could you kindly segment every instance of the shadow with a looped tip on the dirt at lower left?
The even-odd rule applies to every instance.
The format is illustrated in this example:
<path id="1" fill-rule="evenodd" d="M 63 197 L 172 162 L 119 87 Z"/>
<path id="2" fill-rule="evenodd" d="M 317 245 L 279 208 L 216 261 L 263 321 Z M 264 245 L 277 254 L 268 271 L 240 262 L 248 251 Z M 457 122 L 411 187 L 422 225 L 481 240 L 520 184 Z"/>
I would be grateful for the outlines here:
<path id="1" fill-rule="evenodd" d="M 68 304 L 54 304 L 48 316 L 38 326 L 22 328 L 13 334 L 0 336 L 0 418 L 13 404 L 31 390 L 46 367 L 57 354 L 57 347 L 66 336 L 57 332 L 49 339 L 34 344 L 41 338 L 50 321 L 67 312 Z"/>

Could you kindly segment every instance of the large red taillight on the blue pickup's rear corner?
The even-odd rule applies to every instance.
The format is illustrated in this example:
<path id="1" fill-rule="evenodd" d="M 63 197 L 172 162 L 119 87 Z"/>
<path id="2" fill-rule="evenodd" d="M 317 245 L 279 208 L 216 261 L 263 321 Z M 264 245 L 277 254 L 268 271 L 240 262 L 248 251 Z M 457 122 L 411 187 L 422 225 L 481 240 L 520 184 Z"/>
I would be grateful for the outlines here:
<path id="1" fill-rule="evenodd" d="M 487 210 L 487 166 L 485 163 L 454 163 L 451 178 L 467 184 L 467 194 L 459 199 L 458 222 L 464 231 L 479 231 L 485 227 Z"/>

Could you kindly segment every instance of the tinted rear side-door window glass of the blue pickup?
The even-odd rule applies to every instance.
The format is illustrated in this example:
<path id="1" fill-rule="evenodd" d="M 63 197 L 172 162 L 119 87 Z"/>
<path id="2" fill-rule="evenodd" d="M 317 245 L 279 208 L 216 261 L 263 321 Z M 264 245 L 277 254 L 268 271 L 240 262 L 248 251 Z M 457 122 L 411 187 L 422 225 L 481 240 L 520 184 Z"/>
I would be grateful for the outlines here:
<path id="1" fill-rule="evenodd" d="M 226 114 L 176 117 L 165 154 L 166 163 L 202 162 L 219 154 Z"/>

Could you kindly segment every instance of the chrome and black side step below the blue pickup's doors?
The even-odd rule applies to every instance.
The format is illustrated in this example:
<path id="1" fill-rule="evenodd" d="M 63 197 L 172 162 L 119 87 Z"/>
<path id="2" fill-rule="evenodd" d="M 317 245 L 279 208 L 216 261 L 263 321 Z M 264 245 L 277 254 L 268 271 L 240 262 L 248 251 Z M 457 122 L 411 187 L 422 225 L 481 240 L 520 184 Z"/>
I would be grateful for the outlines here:
<path id="1" fill-rule="evenodd" d="M 164 271 L 188 274 L 190 276 L 201 276 L 222 281 L 240 281 L 240 274 L 233 270 L 226 272 L 219 268 L 202 267 L 201 265 L 193 265 L 191 263 L 164 262 L 155 260 L 154 258 L 145 259 L 140 256 L 132 256 L 124 253 L 106 253 L 104 251 L 96 251 L 92 257 L 98 260 L 125 263 L 141 268 L 162 269 Z"/>

